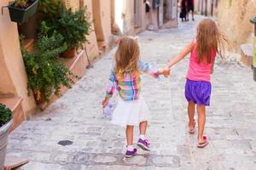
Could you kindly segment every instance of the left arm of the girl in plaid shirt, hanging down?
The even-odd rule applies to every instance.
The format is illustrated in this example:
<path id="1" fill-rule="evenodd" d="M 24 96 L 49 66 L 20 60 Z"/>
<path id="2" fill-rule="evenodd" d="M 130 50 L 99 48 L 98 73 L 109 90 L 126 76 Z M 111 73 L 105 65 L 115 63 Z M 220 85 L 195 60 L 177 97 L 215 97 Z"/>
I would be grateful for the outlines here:
<path id="1" fill-rule="evenodd" d="M 105 107 L 106 105 L 108 105 L 108 101 L 109 99 L 113 96 L 114 90 L 115 90 L 115 75 L 114 75 L 114 71 L 113 69 L 110 72 L 110 76 L 108 78 L 108 86 L 107 86 L 107 90 L 106 90 L 106 96 L 105 99 L 103 99 L 102 101 L 102 106 Z"/>

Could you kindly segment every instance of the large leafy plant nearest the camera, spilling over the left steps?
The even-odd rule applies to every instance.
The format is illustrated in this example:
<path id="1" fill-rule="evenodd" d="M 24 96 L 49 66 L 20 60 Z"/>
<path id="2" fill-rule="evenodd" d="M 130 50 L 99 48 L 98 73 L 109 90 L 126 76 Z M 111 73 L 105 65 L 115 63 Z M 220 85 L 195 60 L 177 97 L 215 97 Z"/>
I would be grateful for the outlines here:
<path id="1" fill-rule="evenodd" d="M 28 77 L 27 88 L 32 89 L 37 100 L 46 101 L 52 94 L 59 96 L 61 86 L 71 88 L 73 78 L 79 78 L 57 59 L 67 50 L 64 37 L 56 31 L 49 36 L 48 31 L 49 27 L 42 22 L 35 53 L 28 53 L 21 47 Z"/>

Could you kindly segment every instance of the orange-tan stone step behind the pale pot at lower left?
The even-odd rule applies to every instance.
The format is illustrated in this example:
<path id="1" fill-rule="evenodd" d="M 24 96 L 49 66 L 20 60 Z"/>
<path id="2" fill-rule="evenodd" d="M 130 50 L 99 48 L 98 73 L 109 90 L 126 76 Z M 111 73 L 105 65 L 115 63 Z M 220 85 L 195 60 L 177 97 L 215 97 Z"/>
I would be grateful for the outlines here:
<path id="1" fill-rule="evenodd" d="M 6 105 L 11 111 L 13 111 L 14 122 L 9 133 L 18 127 L 21 122 L 26 120 L 26 114 L 22 109 L 21 101 L 22 98 L 19 96 L 0 96 L 0 103 Z"/>

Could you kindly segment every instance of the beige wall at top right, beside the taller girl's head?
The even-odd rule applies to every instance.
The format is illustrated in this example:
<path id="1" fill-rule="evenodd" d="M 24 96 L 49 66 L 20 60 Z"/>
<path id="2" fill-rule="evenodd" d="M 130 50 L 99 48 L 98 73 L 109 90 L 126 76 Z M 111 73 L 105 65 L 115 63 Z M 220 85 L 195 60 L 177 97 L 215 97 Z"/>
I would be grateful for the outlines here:
<path id="1" fill-rule="evenodd" d="M 256 15 L 255 11 L 255 0 L 233 0 L 231 7 L 227 0 L 218 3 L 218 26 L 237 51 L 241 43 L 253 42 L 253 24 L 249 20 Z"/>

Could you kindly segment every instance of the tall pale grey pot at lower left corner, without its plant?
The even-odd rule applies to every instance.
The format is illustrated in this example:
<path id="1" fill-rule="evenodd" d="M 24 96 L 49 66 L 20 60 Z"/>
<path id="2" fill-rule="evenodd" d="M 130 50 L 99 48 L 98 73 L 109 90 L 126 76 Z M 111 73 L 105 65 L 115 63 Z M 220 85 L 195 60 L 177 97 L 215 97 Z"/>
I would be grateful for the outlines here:
<path id="1" fill-rule="evenodd" d="M 4 160 L 6 155 L 6 148 L 8 143 L 8 135 L 9 135 L 9 129 L 12 125 L 12 120 L 3 127 L 0 127 L 0 169 L 3 169 L 4 166 Z"/>

